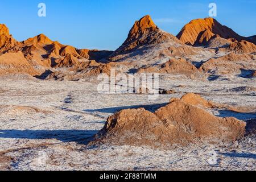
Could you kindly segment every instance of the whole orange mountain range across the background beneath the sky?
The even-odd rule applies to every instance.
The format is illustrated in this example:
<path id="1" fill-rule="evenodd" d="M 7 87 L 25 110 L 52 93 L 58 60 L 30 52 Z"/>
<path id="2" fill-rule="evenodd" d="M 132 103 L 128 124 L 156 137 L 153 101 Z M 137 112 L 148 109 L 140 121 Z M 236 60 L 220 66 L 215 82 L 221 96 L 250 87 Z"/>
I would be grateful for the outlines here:
<path id="1" fill-rule="evenodd" d="M 64 45 L 44 34 L 18 42 L 0 24 L 0 75 L 27 73 L 77 80 L 100 73 L 109 75 L 112 68 L 122 73 L 159 72 L 189 78 L 239 74 L 241 69 L 252 73 L 256 70 L 255 39 L 240 36 L 213 18 L 192 20 L 174 36 L 160 30 L 146 15 L 135 21 L 117 50 L 98 51 Z"/>

